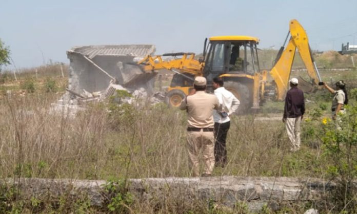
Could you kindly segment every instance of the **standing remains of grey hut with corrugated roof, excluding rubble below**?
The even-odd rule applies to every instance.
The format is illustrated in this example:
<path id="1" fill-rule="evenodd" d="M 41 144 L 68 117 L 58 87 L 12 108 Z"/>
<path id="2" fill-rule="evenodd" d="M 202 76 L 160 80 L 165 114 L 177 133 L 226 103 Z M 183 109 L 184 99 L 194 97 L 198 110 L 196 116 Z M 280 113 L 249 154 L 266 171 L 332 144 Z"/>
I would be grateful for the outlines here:
<path id="1" fill-rule="evenodd" d="M 74 47 L 70 60 L 69 90 L 81 94 L 105 91 L 111 82 L 127 89 L 150 89 L 152 73 L 134 64 L 155 52 L 153 45 L 104 45 Z"/>

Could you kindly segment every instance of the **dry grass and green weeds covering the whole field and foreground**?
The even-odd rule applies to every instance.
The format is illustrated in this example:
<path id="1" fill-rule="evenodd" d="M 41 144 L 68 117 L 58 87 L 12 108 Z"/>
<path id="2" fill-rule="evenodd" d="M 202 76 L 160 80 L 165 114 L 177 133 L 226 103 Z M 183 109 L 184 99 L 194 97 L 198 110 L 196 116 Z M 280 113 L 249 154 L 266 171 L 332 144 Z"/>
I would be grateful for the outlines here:
<path id="1" fill-rule="evenodd" d="M 147 213 L 246 213 L 246 204 L 225 210 L 202 201 L 172 198 L 138 205 L 123 183 L 127 178 L 188 177 L 186 113 L 155 105 L 123 104 L 128 96 L 118 91 L 106 103 L 91 103 L 75 118 L 65 111 L 49 114 L 51 103 L 62 96 L 66 78 L 60 65 L 48 71 L 37 68 L 18 75 L 1 76 L 0 176 L 5 178 L 73 178 L 110 180 L 110 197 L 105 210 L 94 209 L 86 196 L 31 198 L 7 186 L 0 189 L 0 212 L 147 212 Z M 44 68 L 45 69 L 45 68 Z M 56 73 L 55 73 L 56 72 Z M 354 71 L 323 71 L 325 81 L 345 79 L 350 92 L 348 113 L 342 116 L 342 130 L 330 120 L 331 95 L 326 91 L 306 95 L 307 114 L 303 122 L 302 149 L 288 152 L 288 138 L 281 122 L 282 102 L 269 102 L 261 114 L 232 117 L 228 135 L 228 164 L 213 175 L 288 176 L 327 178 L 341 184 L 331 198 L 332 212 L 355 212 L 356 190 L 356 92 Z M 293 75 L 299 75 L 294 73 Z M 66 74 L 67 75 L 67 74 Z M 65 76 L 66 76 L 65 75 Z M 62 93 L 58 93 L 62 92 Z M 143 100 L 141 100 L 143 102 Z M 115 179 L 113 179 L 115 178 Z M 159 203 L 160 202 L 160 203 Z M 296 213 L 305 207 L 287 205 Z M 299 211 L 296 211 L 299 210 Z M 287 212 L 290 212 L 287 211 Z M 293 211 L 292 211 L 293 212 Z M 272 213 L 265 208 L 262 213 Z"/>

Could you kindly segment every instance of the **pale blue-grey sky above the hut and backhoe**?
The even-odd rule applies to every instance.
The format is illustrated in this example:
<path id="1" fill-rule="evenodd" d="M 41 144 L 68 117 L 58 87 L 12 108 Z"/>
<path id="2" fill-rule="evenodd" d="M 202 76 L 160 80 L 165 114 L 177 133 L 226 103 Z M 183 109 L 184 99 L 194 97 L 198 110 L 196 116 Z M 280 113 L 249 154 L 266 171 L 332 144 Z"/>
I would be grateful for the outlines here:
<path id="1" fill-rule="evenodd" d="M 17 68 L 68 63 L 83 45 L 153 44 L 156 54 L 201 53 L 204 38 L 259 37 L 279 47 L 297 19 L 316 50 L 357 44 L 357 0 L 0 1 L 0 38 Z M 9 66 L 8 69 L 12 69 Z"/>

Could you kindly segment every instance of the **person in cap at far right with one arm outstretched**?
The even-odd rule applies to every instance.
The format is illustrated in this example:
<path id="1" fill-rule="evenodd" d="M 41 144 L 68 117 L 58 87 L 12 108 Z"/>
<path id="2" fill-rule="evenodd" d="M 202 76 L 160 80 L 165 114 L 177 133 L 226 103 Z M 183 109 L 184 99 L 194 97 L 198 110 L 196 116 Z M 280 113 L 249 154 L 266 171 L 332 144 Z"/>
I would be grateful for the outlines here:
<path id="1" fill-rule="evenodd" d="M 346 83 L 343 80 L 340 80 L 336 82 L 336 91 L 333 90 L 331 87 L 329 87 L 325 82 L 324 82 L 324 87 L 331 92 L 331 94 L 334 94 L 333 99 L 332 99 L 332 106 L 331 106 L 331 111 L 332 111 L 332 119 L 336 120 L 338 113 L 345 113 L 344 110 L 344 105 L 348 104 L 348 95 L 346 91 Z"/>

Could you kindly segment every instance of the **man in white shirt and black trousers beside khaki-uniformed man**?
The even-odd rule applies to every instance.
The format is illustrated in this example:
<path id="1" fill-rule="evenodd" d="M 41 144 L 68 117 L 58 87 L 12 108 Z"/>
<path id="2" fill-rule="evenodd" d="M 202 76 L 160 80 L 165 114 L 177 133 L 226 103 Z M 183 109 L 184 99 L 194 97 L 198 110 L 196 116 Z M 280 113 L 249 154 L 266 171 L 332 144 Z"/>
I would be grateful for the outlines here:
<path id="1" fill-rule="evenodd" d="M 217 97 L 222 111 L 213 112 L 214 120 L 214 159 L 216 166 L 224 167 L 227 163 L 226 138 L 230 126 L 229 116 L 238 109 L 240 101 L 223 87 L 220 77 L 213 78 L 214 95 Z"/>

